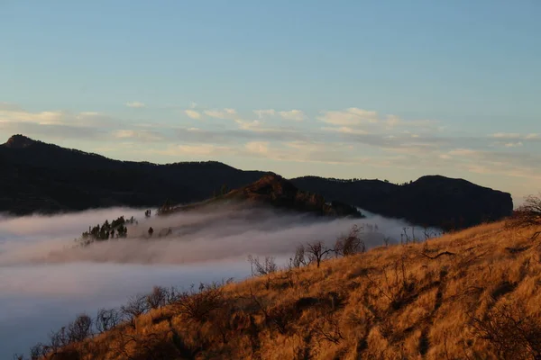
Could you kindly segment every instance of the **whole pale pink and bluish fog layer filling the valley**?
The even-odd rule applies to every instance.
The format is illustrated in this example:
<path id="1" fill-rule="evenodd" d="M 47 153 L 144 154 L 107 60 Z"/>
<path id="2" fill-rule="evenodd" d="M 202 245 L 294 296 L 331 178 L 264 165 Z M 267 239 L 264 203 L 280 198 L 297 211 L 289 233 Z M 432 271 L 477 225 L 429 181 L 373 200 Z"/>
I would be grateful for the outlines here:
<path id="1" fill-rule="evenodd" d="M 88 226 L 124 215 L 128 237 L 78 247 Z M 367 247 L 400 240 L 408 224 L 369 214 L 367 219 L 335 219 L 251 208 L 189 211 L 166 218 L 144 210 L 115 208 L 56 216 L 0 217 L 0 358 L 47 341 L 78 313 L 91 316 L 117 307 L 153 285 L 188 287 L 250 275 L 246 257 L 274 256 L 279 266 L 307 241 L 332 245 L 357 224 Z M 379 231 L 375 233 L 375 229 Z M 148 238 L 148 229 L 155 231 Z M 159 238 L 161 229 L 171 229 Z M 411 230 L 409 230 L 411 231 Z M 421 229 L 417 228 L 419 238 Z"/>

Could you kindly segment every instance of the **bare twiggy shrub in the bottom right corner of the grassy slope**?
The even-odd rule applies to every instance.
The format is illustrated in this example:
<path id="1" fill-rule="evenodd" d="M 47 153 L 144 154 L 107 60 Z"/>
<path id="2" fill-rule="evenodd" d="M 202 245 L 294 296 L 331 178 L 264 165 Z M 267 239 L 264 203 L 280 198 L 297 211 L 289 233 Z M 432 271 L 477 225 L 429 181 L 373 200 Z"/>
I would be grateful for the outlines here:
<path id="1" fill-rule="evenodd" d="M 541 359 L 541 324 L 521 303 L 495 305 L 471 320 L 473 335 L 489 341 L 500 358 Z"/>

